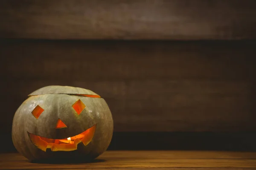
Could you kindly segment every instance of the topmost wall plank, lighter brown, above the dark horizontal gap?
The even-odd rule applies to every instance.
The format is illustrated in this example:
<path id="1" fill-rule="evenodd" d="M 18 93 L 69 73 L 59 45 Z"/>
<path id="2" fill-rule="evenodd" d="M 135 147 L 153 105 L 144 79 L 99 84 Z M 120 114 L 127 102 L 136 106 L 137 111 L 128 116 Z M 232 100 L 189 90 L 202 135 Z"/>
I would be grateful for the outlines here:
<path id="1" fill-rule="evenodd" d="M 1 0 L 0 37 L 256 38 L 254 0 Z"/>

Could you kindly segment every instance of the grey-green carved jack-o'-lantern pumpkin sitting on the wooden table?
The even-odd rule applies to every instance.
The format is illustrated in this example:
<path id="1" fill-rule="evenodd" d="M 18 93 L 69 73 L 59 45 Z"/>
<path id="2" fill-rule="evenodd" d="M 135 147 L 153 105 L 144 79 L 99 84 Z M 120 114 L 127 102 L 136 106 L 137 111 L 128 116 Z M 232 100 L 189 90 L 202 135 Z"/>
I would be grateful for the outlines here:
<path id="1" fill-rule="evenodd" d="M 79 100 L 85 105 L 80 114 L 73 108 Z M 38 119 L 32 114 L 37 106 L 43 109 Z M 56 128 L 59 120 L 66 127 Z M 46 145 L 47 148 L 38 144 L 39 139 L 57 141 L 83 132 L 90 132 L 87 135 L 90 137 L 87 137 L 86 142 L 83 141 L 85 138 L 81 139 L 82 142 L 77 140 L 79 143 L 75 149 L 72 145 L 72 150 L 66 149 L 71 144 L 56 144 L 55 147 Z M 70 86 L 47 86 L 29 94 L 29 98 L 17 109 L 12 123 L 13 144 L 29 160 L 92 160 L 108 148 L 112 134 L 113 119 L 105 100 L 90 90 Z M 35 140 L 32 136 L 40 138 Z M 57 146 L 64 146 L 64 149 Z"/>

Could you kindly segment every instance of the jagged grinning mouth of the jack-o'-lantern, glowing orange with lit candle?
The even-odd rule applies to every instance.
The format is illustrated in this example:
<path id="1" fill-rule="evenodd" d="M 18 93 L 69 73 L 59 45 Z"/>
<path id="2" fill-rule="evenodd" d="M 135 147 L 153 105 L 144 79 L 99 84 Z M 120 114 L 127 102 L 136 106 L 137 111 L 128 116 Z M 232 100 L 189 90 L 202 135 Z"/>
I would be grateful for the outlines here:
<path id="1" fill-rule="evenodd" d="M 82 142 L 84 146 L 89 144 L 93 139 L 95 130 L 96 124 L 78 135 L 65 139 L 50 139 L 29 132 L 28 135 L 32 143 L 45 152 L 47 148 L 50 148 L 52 151 L 72 151 L 77 149 L 77 144 L 80 142 Z"/>

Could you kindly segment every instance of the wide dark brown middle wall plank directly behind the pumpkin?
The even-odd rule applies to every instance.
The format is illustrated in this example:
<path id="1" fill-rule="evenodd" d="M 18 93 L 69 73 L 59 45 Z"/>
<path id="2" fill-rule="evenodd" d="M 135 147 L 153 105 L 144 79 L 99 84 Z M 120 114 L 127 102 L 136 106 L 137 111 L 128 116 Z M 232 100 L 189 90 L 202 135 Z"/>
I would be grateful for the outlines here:
<path id="1" fill-rule="evenodd" d="M 1 130 L 46 85 L 87 88 L 115 131 L 255 131 L 255 42 L 2 41 Z"/>

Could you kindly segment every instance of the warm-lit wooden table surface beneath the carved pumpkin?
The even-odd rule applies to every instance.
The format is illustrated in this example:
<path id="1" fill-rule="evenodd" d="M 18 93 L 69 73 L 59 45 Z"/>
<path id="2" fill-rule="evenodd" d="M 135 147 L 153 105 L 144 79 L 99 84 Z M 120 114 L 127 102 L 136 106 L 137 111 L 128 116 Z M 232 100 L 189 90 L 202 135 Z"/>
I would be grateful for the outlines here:
<path id="1" fill-rule="evenodd" d="M 252 170 L 256 153 L 227 151 L 107 151 L 92 163 L 31 163 L 19 153 L 0 154 L 0 169 L 33 170 Z"/>

